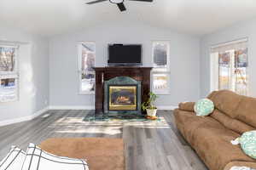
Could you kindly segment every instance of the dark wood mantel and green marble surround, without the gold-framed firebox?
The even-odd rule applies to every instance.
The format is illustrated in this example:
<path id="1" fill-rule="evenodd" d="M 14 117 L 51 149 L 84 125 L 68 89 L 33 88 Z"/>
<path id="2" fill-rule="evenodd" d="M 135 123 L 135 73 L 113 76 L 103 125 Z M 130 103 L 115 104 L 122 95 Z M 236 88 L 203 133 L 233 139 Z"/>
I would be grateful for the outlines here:
<path id="1" fill-rule="evenodd" d="M 144 66 L 107 66 L 107 67 L 94 67 L 96 71 L 96 95 L 95 95 L 95 113 L 106 114 L 109 112 L 108 108 L 108 86 L 109 85 L 137 85 L 137 112 L 141 113 L 141 103 L 148 100 L 148 93 L 150 91 L 150 71 L 152 67 Z M 120 82 L 120 78 L 113 81 L 116 77 L 128 77 L 129 81 L 124 83 Z M 112 80 L 113 83 L 108 83 Z M 121 81 L 122 82 L 122 81 Z M 131 82 L 131 84 L 129 84 Z M 112 111 L 112 110 L 111 110 Z M 125 112 L 125 111 L 124 111 Z M 127 112 L 127 111 L 126 111 Z M 128 111 L 129 112 L 129 111 Z M 132 112 L 132 111 L 131 111 Z M 136 111 L 133 111 L 136 112 Z M 145 114 L 145 112 L 143 112 Z"/>

